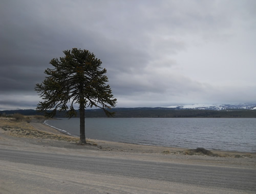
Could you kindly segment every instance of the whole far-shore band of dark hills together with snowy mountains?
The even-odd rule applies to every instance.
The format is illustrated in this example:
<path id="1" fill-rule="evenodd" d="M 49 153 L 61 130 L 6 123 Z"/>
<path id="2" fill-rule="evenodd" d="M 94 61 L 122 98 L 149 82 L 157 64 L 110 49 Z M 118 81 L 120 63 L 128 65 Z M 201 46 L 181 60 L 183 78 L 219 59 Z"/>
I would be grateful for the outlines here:
<path id="1" fill-rule="evenodd" d="M 208 117 L 208 118 L 255 118 L 255 104 L 195 104 L 177 105 L 169 107 L 138 107 L 138 108 L 113 108 L 115 117 L 155 117 L 155 118 L 180 118 L 180 117 Z M 42 115 L 36 110 L 5 110 L 0 115 L 20 113 L 23 115 Z M 79 111 L 77 110 L 79 116 Z M 65 112 L 57 112 L 56 117 L 65 117 Z M 86 109 L 86 117 L 106 117 L 101 109 Z"/>

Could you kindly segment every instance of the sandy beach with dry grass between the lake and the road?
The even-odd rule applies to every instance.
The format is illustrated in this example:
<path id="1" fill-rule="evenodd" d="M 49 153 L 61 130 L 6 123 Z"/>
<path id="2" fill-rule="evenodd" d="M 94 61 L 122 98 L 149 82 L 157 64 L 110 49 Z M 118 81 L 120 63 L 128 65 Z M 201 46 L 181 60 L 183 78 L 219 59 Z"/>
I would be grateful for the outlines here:
<path id="1" fill-rule="evenodd" d="M 213 155 L 206 155 L 203 153 L 191 154 L 191 152 L 189 152 L 189 149 L 187 148 L 143 146 L 137 144 L 119 143 L 96 139 L 87 139 L 88 144 L 86 145 L 80 145 L 78 142 L 79 138 L 62 134 L 61 132 L 49 126 L 44 125 L 43 120 L 40 119 L 32 118 L 30 123 L 26 123 L 25 121 L 16 122 L 12 119 L 7 119 L 4 117 L 0 118 L 0 146 L 1 149 L 4 150 L 17 150 L 26 152 L 29 151 L 77 156 L 88 155 L 116 159 L 129 158 L 136 161 L 238 167 L 253 170 L 256 169 L 256 153 L 211 151 Z M 14 165 L 13 163 L 9 164 L 5 163 L 2 160 L 0 161 L 2 164 L 2 167 L 0 168 L 3 168 L 3 166 L 8 167 L 9 165 Z M 0 193 L 12 193 L 13 190 L 18 189 L 17 185 L 13 185 L 11 181 L 6 181 L 3 175 L 0 177 L 0 181 Z M 24 189 L 21 189 L 20 192 L 16 193 L 22 193 Z M 198 193 L 203 193 L 199 192 L 202 191 L 200 190 L 200 188 L 197 189 L 195 191 L 198 191 Z M 212 192 L 209 193 L 215 192 L 216 190 L 212 190 Z M 238 191 L 237 193 L 239 192 L 241 191 Z M 102 193 L 106 192 L 102 191 Z M 159 193 L 171 192 L 166 191 Z M 234 193 L 236 193 L 236 190 L 234 190 Z"/>

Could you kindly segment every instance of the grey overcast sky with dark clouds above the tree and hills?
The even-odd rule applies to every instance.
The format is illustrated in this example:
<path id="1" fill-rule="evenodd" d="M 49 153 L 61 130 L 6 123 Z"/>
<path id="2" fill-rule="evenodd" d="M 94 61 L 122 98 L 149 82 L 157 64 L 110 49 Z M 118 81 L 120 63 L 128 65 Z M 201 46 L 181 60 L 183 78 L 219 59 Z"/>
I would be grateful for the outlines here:
<path id="1" fill-rule="evenodd" d="M 0 110 L 36 108 L 53 58 L 102 61 L 117 107 L 256 102 L 254 0 L 2 0 Z"/>

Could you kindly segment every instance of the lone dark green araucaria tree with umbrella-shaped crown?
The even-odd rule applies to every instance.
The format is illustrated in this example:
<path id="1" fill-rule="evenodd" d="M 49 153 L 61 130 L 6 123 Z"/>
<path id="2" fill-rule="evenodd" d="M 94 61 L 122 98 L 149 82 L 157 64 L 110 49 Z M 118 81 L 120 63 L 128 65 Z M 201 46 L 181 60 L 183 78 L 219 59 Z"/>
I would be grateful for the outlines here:
<path id="1" fill-rule="evenodd" d="M 84 111 L 87 107 L 98 107 L 107 116 L 113 115 L 111 107 L 115 107 L 116 99 L 111 88 L 106 85 L 108 78 L 104 75 L 106 69 L 101 67 L 101 61 L 88 50 L 63 51 L 65 57 L 52 59 L 53 68 L 47 68 L 48 76 L 41 84 L 36 84 L 35 90 L 44 102 L 37 104 L 38 111 L 47 111 L 50 118 L 56 111 L 66 111 L 68 116 L 76 116 L 74 104 L 79 105 L 80 143 L 86 143 Z"/>

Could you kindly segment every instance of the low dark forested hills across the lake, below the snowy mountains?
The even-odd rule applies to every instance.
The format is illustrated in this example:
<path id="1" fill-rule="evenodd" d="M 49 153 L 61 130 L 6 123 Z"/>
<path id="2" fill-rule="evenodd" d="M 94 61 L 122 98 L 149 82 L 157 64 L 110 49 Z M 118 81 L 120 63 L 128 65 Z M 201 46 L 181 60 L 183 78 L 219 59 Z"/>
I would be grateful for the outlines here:
<path id="1" fill-rule="evenodd" d="M 115 117 L 154 117 L 154 118 L 256 118 L 256 110 L 230 109 L 230 110 L 177 110 L 173 108 L 113 108 Z M 79 111 L 77 111 L 78 113 Z M 5 110 L 0 115 L 20 113 L 23 115 L 43 115 L 35 110 Z M 79 116 L 79 115 L 78 115 Z M 65 117 L 65 113 L 57 113 L 56 117 Z M 106 117 L 101 109 L 87 109 L 86 117 Z"/>

